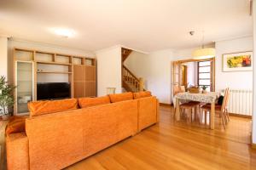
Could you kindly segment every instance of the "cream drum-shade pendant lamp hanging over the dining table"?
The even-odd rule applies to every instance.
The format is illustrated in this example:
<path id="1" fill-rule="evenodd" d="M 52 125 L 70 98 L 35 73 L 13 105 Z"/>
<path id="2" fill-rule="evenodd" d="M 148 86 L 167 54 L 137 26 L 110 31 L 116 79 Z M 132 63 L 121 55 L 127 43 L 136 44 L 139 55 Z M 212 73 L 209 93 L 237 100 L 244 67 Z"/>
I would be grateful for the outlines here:
<path id="1" fill-rule="evenodd" d="M 204 47 L 204 32 L 202 35 L 202 45 L 200 49 L 195 49 L 192 52 L 193 59 L 209 59 L 216 55 L 215 48 L 205 48 Z"/>

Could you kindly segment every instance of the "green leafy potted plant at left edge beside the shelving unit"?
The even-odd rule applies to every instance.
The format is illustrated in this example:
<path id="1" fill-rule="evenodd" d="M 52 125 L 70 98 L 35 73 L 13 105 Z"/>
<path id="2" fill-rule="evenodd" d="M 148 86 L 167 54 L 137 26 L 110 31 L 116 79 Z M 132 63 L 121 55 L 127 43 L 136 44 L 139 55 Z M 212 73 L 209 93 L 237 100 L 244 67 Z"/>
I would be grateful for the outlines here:
<path id="1" fill-rule="evenodd" d="M 0 77 L 0 116 L 3 120 L 9 118 L 9 108 L 14 105 L 14 89 L 15 87 L 9 85 L 5 77 Z"/>

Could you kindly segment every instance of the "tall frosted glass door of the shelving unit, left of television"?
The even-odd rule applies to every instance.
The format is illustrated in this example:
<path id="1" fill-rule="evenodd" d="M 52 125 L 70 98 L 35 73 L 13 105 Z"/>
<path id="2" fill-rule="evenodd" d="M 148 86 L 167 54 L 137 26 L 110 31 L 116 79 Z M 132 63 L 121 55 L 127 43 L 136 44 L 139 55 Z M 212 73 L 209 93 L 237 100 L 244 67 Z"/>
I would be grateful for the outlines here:
<path id="1" fill-rule="evenodd" d="M 27 103 L 33 100 L 33 63 L 32 61 L 16 61 L 16 114 L 28 112 Z"/>

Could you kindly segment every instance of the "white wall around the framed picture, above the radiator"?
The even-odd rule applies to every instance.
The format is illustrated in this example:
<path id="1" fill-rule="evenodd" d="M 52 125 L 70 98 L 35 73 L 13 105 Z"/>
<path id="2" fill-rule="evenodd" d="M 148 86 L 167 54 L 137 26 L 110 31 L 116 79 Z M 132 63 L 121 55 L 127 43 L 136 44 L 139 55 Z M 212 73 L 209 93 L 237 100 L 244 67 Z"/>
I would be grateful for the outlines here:
<path id="1" fill-rule="evenodd" d="M 215 43 L 216 48 L 216 90 L 224 88 L 253 89 L 253 71 L 222 71 L 222 55 L 253 51 L 253 37 L 243 37 L 234 40 Z"/>

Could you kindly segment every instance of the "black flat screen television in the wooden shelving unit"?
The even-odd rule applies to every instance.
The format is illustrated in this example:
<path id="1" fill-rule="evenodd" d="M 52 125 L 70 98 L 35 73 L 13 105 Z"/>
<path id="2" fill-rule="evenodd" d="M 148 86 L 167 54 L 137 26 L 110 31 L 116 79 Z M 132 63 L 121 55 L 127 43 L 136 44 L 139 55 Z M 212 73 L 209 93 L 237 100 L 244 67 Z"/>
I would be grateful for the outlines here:
<path id="1" fill-rule="evenodd" d="M 38 82 L 37 91 L 38 100 L 71 97 L 69 82 Z"/>

